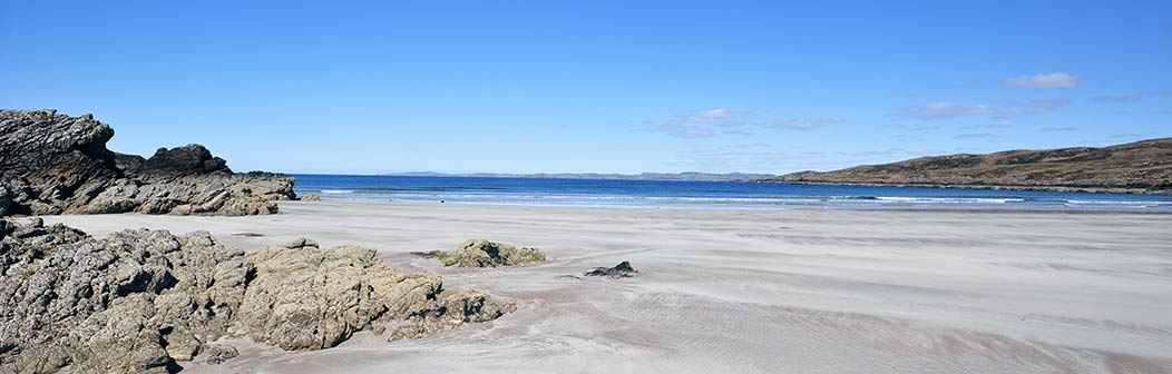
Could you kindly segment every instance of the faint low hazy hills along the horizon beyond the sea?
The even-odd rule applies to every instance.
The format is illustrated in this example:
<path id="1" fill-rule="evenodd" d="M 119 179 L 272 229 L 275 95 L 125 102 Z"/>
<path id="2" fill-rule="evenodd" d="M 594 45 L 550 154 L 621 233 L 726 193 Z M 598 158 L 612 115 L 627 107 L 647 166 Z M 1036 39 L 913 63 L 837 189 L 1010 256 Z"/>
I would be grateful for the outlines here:
<path id="1" fill-rule="evenodd" d="M 768 174 L 744 174 L 744 172 L 730 172 L 730 174 L 707 174 L 707 172 L 642 172 L 642 174 L 597 174 L 597 172 L 581 172 L 581 174 L 493 174 L 493 172 L 471 172 L 471 174 L 443 174 L 443 172 L 430 172 L 430 171 L 415 171 L 415 172 L 394 172 L 383 174 L 384 176 L 401 176 L 401 177 L 478 177 L 478 178 L 557 178 L 557 179 L 614 179 L 614 181 L 702 181 L 702 182 L 743 182 L 743 181 L 756 181 L 763 178 L 771 178 L 772 175 Z"/>

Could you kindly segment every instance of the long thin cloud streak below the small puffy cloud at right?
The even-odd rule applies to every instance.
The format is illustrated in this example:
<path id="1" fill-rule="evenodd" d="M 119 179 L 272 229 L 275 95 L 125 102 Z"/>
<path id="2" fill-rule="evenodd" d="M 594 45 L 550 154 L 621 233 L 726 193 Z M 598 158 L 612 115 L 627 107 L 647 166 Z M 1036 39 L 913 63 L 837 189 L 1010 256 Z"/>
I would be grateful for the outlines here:
<path id="1" fill-rule="evenodd" d="M 1070 103 L 1069 98 L 1038 98 L 1030 101 L 1004 101 L 1000 106 L 958 104 L 941 101 L 924 106 L 900 108 L 895 117 L 917 120 L 955 118 L 966 116 L 1023 116 L 1042 114 Z"/>

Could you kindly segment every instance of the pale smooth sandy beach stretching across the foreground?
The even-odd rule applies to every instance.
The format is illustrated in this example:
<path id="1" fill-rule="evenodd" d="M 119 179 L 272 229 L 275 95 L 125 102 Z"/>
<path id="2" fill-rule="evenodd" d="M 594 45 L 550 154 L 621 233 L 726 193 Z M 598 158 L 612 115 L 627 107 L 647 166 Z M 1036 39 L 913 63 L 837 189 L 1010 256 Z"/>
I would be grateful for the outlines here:
<path id="1" fill-rule="evenodd" d="M 420 340 L 362 333 L 319 352 L 236 340 L 241 358 L 188 365 L 197 373 L 1172 373 L 1170 215 L 342 200 L 281 212 L 46 220 L 95 236 L 207 230 L 246 250 L 299 236 L 359 244 L 520 306 Z M 471 237 L 551 260 L 461 270 L 410 254 Z M 558 277 L 621 260 L 642 277 Z"/>

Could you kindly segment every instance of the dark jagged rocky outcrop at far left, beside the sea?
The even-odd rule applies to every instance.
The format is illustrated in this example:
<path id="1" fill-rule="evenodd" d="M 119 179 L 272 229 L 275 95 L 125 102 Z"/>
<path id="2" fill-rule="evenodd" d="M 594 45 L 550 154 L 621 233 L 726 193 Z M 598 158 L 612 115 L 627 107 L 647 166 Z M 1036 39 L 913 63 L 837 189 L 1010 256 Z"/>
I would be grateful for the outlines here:
<path id="1" fill-rule="evenodd" d="M 88 114 L 0 110 L 0 216 L 263 215 L 297 197 L 293 177 L 232 172 L 199 144 L 143 158 L 110 151 L 111 137 Z"/>

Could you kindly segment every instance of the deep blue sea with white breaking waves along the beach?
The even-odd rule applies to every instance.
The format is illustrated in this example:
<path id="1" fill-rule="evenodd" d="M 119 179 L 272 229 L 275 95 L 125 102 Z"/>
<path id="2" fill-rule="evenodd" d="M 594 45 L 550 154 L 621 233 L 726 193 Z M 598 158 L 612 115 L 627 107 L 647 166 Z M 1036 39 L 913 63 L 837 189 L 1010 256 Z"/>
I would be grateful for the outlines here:
<path id="1" fill-rule="evenodd" d="M 1172 196 L 782 183 L 294 175 L 323 199 L 650 209 L 1172 212 Z"/>

